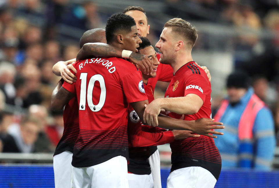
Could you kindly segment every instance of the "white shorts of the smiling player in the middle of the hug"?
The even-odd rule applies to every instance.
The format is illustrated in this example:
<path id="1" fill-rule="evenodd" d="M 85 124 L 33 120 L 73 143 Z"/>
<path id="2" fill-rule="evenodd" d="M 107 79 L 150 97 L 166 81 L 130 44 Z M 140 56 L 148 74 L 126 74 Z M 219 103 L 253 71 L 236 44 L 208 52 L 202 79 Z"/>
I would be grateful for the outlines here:
<path id="1" fill-rule="evenodd" d="M 128 173 L 129 188 L 153 188 L 152 175 L 138 175 Z"/>

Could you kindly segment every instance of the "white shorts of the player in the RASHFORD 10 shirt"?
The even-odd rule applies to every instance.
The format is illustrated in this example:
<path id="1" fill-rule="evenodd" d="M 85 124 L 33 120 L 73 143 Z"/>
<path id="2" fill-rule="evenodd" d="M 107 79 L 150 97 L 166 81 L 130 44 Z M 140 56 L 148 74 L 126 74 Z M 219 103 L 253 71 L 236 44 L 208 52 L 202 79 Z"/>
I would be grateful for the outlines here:
<path id="1" fill-rule="evenodd" d="M 71 188 L 128 188 L 127 174 L 127 160 L 123 156 L 94 166 L 73 166 Z"/>

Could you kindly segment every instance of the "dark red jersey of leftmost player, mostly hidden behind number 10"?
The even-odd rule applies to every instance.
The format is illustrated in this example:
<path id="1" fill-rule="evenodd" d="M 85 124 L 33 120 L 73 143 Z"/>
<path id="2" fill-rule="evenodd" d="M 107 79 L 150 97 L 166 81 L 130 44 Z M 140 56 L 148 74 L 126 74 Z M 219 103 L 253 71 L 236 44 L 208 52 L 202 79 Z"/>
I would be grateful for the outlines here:
<path id="1" fill-rule="evenodd" d="M 73 153 L 74 143 L 79 133 L 79 120 L 78 120 L 78 100 L 76 97 L 71 99 L 65 105 L 63 112 L 64 130 L 62 138 L 56 146 L 54 155 L 64 151 Z"/>

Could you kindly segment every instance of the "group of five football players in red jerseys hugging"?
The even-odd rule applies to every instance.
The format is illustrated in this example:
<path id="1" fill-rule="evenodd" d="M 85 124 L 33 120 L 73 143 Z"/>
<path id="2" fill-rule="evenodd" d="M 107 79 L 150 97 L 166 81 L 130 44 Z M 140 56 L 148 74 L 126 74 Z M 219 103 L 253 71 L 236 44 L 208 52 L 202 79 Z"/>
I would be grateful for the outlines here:
<path id="1" fill-rule="evenodd" d="M 161 187 L 157 145 L 170 143 L 167 187 L 214 187 L 221 157 L 214 144 L 210 73 L 193 61 L 196 29 L 180 18 L 164 25 L 154 50 L 143 8 L 112 15 L 86 31 L 77 58 L 57 62 L 53 110 L 64 132 L 53 158 L 55 187 Z M 170 82 L 154 99 L 157 81 Z M 159 128 L 160 127 L 160 128 Z"/>

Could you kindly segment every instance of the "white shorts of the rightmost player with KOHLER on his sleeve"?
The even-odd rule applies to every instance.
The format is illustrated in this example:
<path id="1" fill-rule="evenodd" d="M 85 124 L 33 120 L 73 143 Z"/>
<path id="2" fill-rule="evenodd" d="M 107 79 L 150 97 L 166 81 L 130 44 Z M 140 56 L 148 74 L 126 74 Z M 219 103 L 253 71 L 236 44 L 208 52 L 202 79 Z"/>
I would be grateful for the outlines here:
<path id="1" fill-rule="evenodd" d="M 172 171 L 167 179 L 167 188 L 214 188 L 216 182 L 210 171 L 191 166 Z"/>

